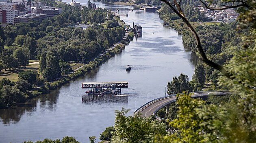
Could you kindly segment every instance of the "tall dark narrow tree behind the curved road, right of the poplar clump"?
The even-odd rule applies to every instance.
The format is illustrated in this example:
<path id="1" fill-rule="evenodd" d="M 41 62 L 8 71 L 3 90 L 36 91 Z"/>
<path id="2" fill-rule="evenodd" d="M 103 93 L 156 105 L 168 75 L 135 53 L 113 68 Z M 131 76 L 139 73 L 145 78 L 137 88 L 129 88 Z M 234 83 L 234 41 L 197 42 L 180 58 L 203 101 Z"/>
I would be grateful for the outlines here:
<path id="1" fill-rule="evenodd" d="M 201 87 L 204 86 L 204 82 L 205 82 L 204 65 L 202 64 L 196 65 L 195 73 L 193 74 L 192 80 L 195 80 L 195 82 L 200 83 Z"/>

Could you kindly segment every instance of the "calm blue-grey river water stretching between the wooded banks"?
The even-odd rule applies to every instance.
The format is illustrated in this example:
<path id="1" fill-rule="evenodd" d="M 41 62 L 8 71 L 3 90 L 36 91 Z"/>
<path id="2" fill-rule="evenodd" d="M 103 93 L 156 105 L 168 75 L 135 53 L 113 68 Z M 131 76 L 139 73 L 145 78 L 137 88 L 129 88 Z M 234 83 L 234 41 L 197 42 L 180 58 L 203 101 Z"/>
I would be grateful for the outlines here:
<path id="1" fill-rule="evenodd" d="M 84 3 L 87 5 L 87 1 Z M 142 37 L 135 38 L 121 53 L 84 77 L 16 109 L 1 109 L 1 143 L 65 136 L 75 137 L 82 143 L 89 143 L 89 136 L 96 136 L 100 141 L 100 133 L 115 122 L 115 110 L 124 107 L 130 109 L 128 115 L 132 115 L 135 108 L 146 101 L 165 96 L 167 82 L 174 76 L 183 73 L 191 80 L 197 60 L 190 51 L 184 50 L 182 37 L 163 26 L 158 13 L 120 13 L 128 14 L 128 17 L 121 17 L 126 24 L 141 24 Z M 126 65 L 131 65 L 130 72 L 125 70 Z M 93 97 L 81 88 L 81 82 L 116 81 L 129 82 L 129 88 L 122 89 L 122 94 L 127 96 Z"/>

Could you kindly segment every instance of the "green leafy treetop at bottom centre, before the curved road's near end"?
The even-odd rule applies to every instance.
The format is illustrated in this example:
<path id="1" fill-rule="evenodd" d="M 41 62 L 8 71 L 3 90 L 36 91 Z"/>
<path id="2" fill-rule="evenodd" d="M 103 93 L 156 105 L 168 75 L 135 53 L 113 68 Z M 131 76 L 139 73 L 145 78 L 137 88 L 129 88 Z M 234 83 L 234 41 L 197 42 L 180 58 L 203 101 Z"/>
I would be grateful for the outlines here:
<path id="1" fill-rule="evenodd" d="M 150 143 L 157 134 L 165 135 L 163 123 L 140 115 L 125 116 L 129 110 L 115 111 L 113 143 Z"/>

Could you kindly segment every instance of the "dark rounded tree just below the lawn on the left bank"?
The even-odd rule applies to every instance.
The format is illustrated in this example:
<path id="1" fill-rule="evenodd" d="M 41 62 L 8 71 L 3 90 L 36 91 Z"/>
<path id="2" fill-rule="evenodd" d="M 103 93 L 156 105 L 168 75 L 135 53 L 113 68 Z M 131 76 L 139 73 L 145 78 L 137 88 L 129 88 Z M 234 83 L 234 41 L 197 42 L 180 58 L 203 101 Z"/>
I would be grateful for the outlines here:
<path id="1" fill-rule="evenodd" d="M 27 70 L 27 71 L 19 72 L 18 74 L 19 78 L 27 80 L 31 84 L 30 88 L 32 88 L 32 85 L 36 82 L 37 76 L 39 76 L 39 74 L 37 73 L 36 70 Z"/>

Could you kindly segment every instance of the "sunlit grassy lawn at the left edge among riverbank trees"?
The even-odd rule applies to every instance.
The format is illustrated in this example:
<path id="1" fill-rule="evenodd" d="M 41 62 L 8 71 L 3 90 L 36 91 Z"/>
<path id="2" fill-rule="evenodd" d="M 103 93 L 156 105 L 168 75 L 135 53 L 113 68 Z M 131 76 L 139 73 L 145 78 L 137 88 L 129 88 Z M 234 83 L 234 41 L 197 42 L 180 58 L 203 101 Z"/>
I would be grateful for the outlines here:
<path id="1" fill-rule="evenodd" d="M 39 69 L 39 64 L 29 64 L 26 69 L 13 69 L 13 70 L 7 70 L 7 71 L 0 71 L 0 80 L 2 78 L 8 78 L 11 81 L 17 81 L 18 80 L 18 73 L 26 70 L 37 70 Z"/>

